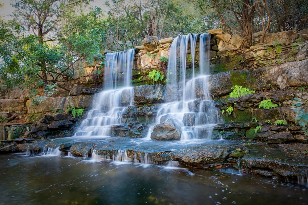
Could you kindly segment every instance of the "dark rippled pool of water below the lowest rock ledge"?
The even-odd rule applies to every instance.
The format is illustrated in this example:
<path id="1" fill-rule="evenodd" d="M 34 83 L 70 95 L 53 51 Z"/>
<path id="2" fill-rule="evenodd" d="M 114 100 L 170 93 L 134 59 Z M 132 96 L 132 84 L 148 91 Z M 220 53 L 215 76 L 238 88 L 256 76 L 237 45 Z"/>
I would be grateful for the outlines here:
<path id="1" fill-rule="evenodd" d="M 308 204 L 306 185 L 240 176 L 228 168 L 221 172 L 25 154 L 2 154 L 0 164 L 4 205 Z"/>

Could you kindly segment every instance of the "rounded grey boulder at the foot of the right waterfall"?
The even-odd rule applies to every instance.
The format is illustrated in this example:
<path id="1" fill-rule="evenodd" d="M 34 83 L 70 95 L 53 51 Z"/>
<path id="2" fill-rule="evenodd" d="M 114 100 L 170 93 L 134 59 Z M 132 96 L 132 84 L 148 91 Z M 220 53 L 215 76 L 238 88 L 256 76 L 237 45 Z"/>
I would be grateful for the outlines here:
<path id="1" fill-rule="evenodd" d="M 181 127 L 174 119 L 168 119 L 157 124 L 151 133 L 153 140 L 179 140 L 181 138 Z"/>

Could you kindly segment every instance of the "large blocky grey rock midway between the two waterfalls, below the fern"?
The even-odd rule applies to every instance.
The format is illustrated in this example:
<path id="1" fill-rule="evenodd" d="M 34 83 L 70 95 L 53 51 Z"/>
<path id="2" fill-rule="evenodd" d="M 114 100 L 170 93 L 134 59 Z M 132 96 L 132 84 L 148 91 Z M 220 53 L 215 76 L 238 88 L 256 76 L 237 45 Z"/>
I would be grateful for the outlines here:
<path id="1" fill-rule="evenodd" d="M 166 96 L 163 85 L 141 85 L 136 86 L 134 91 L 134 105 L 152 104 L 164 102 Z"/>

